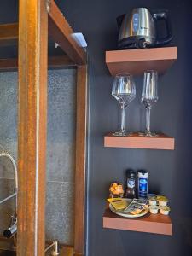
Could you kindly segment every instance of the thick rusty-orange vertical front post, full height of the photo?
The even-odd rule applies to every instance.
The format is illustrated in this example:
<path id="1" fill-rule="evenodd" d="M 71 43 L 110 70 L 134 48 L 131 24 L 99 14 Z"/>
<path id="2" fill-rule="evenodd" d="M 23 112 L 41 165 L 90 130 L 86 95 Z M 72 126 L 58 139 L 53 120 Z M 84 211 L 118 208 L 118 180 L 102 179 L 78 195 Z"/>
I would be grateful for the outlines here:
<path id="1" fill-rule="evenodd" d="M 47 32 L 46 1 L 20 0 L 18 256 L 44 255 Z"/>

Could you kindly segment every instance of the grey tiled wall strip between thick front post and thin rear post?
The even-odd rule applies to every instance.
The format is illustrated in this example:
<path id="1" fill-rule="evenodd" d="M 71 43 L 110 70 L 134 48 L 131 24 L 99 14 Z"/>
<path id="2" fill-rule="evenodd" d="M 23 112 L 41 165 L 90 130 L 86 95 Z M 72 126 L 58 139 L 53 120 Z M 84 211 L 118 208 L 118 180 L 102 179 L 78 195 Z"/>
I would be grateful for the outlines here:
<path id="1" fill-rule="evenodd" d="M 73 245 L 76 70 L 49 71 L 46 238 Z"/>

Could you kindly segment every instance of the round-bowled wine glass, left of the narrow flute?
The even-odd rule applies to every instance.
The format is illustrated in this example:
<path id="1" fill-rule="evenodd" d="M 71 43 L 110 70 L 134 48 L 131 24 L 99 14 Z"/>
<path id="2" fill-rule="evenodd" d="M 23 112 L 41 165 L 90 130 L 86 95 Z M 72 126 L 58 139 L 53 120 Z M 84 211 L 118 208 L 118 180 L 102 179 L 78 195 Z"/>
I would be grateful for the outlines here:
<path id="1" fill-rule="evenodd" d="M 120 131 L 113 133 L 114 136 L 128 136 L 131 133 L 125 131 L 125 108 L 136 97 L 136 86 L 129 73 L 118 74 L 113 81 L 112 96 L 119 102 L 121 109 Z"/>

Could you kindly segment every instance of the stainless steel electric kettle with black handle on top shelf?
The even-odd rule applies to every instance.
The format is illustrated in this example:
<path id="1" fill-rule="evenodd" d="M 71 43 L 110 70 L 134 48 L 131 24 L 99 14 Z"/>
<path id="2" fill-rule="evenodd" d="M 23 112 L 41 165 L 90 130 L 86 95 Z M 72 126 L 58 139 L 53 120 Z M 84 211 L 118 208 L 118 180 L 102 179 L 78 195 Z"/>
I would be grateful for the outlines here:
<path id="1" fill-rule="evenodd" d="M 158 36 L 158 22 L 165 22 L 163 38 Z M 168 44 L 172 40 L 172 29 L 167 13 L 151 14 L 147 8 L 133 9 L 131 15 L 121 15 L 117 18 L 119 26 L 119 49 L 134 49 L 156 47 Z"/>

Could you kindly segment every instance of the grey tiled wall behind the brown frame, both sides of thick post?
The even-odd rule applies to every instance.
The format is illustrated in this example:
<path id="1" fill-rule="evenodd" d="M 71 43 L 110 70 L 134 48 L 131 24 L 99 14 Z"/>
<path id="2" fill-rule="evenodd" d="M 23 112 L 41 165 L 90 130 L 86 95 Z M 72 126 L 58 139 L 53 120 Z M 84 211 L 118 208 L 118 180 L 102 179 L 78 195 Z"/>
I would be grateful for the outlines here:
<path id="1" fill-rule="evenodd" d="M 76 71 L 49 71 L 46 237 L 73 244 Z M 17 159 L 17 73 L 0 73 L 0 144 Z M 0 159 L 0 200 L 13 191 L 13 171 Z M 13 201 L 0 205 L 0 235 Z"/>

